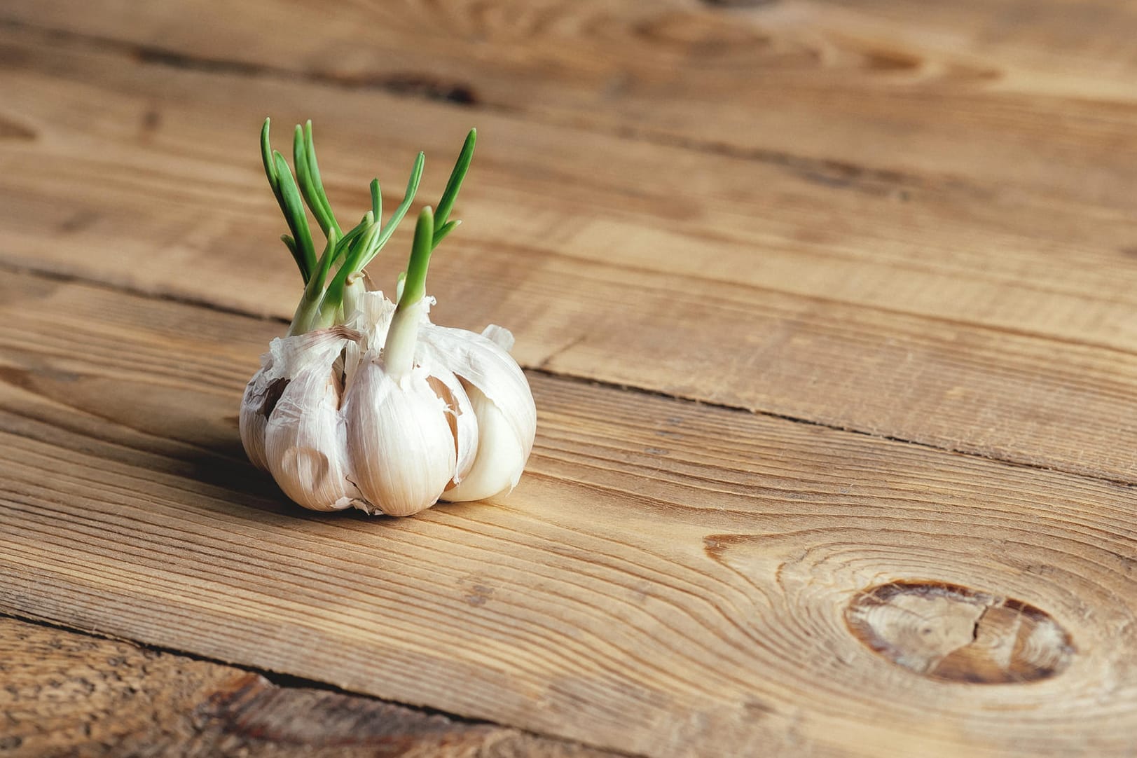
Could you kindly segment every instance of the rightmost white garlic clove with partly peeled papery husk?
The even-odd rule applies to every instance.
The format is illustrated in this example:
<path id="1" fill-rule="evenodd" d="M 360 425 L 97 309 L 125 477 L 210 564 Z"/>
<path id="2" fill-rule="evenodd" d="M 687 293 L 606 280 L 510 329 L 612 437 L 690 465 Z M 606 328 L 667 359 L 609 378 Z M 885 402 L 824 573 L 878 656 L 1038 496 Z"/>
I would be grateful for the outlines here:
<path id="1" fill-rule="evenodd" d="M 453 372 L 478 419 L 473 466 L 442 499 L 481 500 L 512 491 L 525 469 L 537 433 L 537 406 L 529 381 L 508 352 L 513 335 L 496 325 L 476 334 L 425 323 L 418 340 L 421 363 Z"/>

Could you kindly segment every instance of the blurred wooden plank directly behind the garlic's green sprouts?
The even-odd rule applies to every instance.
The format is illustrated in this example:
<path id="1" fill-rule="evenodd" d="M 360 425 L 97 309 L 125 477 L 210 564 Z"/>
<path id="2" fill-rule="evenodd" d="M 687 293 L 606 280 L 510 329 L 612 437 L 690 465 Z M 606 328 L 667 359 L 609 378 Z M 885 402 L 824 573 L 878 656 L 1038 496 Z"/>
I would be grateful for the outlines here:
<path id="1" fill-rule="evenodd" d="M 356 208 L 373 168 L 400 177 L 418 148 L 435 197 L 475 118 L 26 31 L 0 42 L 3 118 L 34 135 L 0 141 L 0 261 L 256 314 L 291 314 L 297 289 L 255 156 L 265 111 L 316 117 L 333 200 Z M 1137 481 L 1129 219 L 476 119 L 467 223 L 432 290 L 442 320 L 513 327 L 523 365 Z"/>

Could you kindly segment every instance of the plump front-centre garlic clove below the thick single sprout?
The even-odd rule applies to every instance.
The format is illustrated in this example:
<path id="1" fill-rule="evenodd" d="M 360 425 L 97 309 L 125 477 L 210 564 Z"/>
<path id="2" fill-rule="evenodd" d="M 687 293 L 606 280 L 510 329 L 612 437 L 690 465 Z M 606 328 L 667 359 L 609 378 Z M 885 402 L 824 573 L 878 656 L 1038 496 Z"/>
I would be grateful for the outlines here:
<path id="1" fill-rule="evenodd" d="M 428 375 L 416 367 L 396 380 L 370 353 L 346 398 L 352 481 L 389 516 L 430 508 L 454 478 L 457 453 L 447 407 Z"/>

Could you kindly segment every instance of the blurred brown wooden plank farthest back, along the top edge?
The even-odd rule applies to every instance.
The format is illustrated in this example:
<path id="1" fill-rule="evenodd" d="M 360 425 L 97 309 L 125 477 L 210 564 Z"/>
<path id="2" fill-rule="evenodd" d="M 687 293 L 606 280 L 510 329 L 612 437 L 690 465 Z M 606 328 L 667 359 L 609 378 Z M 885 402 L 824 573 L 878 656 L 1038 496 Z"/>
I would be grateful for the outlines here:
<path id="1" fill-rule="evenodd" d="M 857 175 L 962 177 L 1132 208 L 1132 2 L 722 5 L 13 0 L 3 17 L 209 67 L 424 92 L 758 159 L 829 159 Z"/>

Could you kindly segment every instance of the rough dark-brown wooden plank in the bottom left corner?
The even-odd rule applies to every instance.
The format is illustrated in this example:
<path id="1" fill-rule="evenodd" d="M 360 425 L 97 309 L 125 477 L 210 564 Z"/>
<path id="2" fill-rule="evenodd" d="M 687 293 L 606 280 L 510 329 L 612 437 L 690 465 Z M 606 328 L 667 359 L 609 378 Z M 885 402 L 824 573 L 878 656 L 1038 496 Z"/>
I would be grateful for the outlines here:
<path id="1" fill-rule="evenodd" d="M 0 676 L 6 758 L 612 755 L 11 617 Z"/>

